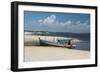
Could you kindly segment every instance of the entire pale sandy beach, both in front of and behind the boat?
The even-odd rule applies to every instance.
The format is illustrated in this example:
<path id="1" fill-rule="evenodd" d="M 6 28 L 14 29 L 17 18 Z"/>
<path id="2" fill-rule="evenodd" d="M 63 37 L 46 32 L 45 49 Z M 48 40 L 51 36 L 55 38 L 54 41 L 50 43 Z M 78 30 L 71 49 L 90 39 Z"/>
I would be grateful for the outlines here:
<path id="1" fill-rule="evenodd" d="M 64 47 L 40 46 L 39 38 L 56 42 L 56 39 L 67 39 L 63 37 L 39 36 L 28 33 L 25 35 L 24 41 L 24 61 L 51 61 L 51 60 L 77 60 L 90 58 L 90 52 L 78 50 L 76 48 L 69 49 Z M 75 39 L 73 42 L 79 42 Z"/>

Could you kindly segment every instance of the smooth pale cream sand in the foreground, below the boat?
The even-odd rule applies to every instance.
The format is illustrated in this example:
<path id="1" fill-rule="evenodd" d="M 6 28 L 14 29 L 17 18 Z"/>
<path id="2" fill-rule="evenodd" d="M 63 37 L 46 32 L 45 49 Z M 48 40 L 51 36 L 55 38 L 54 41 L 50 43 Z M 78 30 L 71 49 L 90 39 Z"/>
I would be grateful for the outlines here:
<path id="1" fill-rule="evenodd" d="M 53 46 L 25 46 L 24 61 L 75 60 L 90 58 L 89 51 Z"/>

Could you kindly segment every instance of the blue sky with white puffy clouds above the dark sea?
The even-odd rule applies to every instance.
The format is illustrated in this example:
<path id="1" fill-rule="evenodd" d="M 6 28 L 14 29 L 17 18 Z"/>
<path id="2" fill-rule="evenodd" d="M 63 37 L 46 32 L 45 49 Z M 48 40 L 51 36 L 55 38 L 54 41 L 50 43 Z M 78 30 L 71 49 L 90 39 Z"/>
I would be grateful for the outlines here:
<path id="1" fill-rule="evenodd" d="M 89 33 L 90 14 L 24 11 L 25 30 Z"/>

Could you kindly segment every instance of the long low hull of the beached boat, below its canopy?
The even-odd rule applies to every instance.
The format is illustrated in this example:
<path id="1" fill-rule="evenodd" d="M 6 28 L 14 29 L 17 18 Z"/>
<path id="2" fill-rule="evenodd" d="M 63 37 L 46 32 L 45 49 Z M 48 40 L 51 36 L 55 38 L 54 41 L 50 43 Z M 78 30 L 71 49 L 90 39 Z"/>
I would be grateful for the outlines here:
<path id="1" fill-rule="evenodd" d="M 66 48 L 75 48 L 76 45 L 72 45 L 71 43 L 62 43 L 62 42 L 51 42 L 51 41 L 46 41 L 46 40 L 42 40 L 40 39 L 40 45 L 41 46 L 56 46 L 56 47 L 66 47 Z"/>

